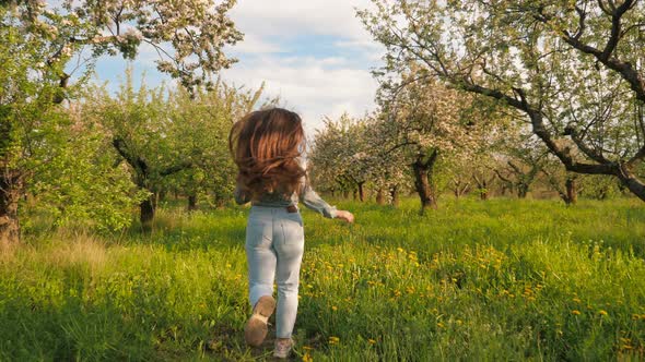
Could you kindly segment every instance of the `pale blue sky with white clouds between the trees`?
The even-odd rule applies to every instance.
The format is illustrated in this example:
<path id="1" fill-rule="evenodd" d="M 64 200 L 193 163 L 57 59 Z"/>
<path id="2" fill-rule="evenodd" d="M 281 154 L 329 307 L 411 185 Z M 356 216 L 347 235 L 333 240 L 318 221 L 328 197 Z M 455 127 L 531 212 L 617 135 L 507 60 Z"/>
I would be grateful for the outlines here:
<path id="1" fill-rule="evenodd" d="M 363 116 L 374 109 L 377 84 L 370 71 L 384 53 L 355 17 L 354 8 L 368 7 L 370 0 L 238 0 L 230 15 L 245 38 L 225 48 L 239 61 L 221 75 L 251 89 L 265 82 L 265 94 L 298 112 L 309 134 L 324 117 Z M 144 73 L 149 85 L 171 82 L 156 71 L 156 57 L 141 47 L 136 80 Z M 116 89 L 127 64 L 120 56 L 104 57 L 97 77 Z"/>

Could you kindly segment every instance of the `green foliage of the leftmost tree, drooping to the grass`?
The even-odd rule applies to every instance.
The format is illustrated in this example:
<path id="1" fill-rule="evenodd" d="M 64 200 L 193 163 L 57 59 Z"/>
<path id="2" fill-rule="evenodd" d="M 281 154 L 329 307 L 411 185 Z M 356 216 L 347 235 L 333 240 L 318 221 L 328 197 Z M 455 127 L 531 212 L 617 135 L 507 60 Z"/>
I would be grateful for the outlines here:
<path id="1" fill-rule="evenodd" d="M 60 53 L 56 62 L 45 64 L 58 44 L 37 32 L 22 32 L 5 8 L 0 19 L 0 171 L 3 181 L 12 181 L 1 190 L 3 196 L 28 193 L 37 203 L 23 205 L 30 206 L 24 213 L 47 209 L 56 226 L 92 224 L 102 230 L 128 226 L 137 196 L 129 192 L 127 174 L 114 169 L 101 140 L 84 128 L 73 104 L 62 102 L 62 93 L 75 96 L 84 79 L 61 88 L 69 55 Z M 61 21 L 54 14 L 47 17 L 47 23 Z"/>

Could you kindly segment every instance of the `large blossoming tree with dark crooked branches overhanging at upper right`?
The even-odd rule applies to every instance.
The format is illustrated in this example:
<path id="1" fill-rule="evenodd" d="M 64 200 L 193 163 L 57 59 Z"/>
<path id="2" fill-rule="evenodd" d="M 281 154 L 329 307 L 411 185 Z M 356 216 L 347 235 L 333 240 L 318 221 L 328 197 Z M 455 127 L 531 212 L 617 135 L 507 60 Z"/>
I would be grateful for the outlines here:
<path id="1" fill-rule="evenodd" d="M 578 173 L 607 174 L 645 201 L 645 2 L 373 0 L 360 11 L 387 48 L 521 114 Z"/>

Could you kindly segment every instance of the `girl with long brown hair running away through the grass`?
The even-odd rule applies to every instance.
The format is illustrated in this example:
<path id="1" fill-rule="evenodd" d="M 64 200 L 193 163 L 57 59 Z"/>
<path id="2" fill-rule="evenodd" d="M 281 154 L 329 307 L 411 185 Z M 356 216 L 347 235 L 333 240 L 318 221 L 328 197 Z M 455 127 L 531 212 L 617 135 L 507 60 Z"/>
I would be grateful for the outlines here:
<path id="1" fill-rule="evenodd" d="M 298 114 L 281 108 L 251 112 L 233 125 L 228 146 L 239 169 L 235 201 L 241 205 L 251 202 L 246 258 L 253 315 L 245 327 L 245 339 L 256 347 L 265 340 L 267 321 L 275 309 L 272 294 L 277 279 L 273 355 L 286 358 L 293 346 L 305 243 L 297 202 L 327 218 L 353 222 L 354 216 L 329 206 L 309 185 L 302 161 L 305 136 Z"/>

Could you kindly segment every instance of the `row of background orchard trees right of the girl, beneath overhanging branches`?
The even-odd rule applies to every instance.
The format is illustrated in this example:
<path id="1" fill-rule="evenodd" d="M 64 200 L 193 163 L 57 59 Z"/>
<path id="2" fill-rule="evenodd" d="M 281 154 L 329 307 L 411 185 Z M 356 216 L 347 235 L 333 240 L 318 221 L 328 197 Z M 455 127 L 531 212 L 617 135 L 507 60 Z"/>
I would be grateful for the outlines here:
<path id="1" fill-rule="evenodd" d="M 530 135 L 517 130 L 514 134 L 506 128 L 497 142 L 483 143 L 485 140 L 476 136 L 486 133 L 478 134 L 473 129 L 470 134 L 473 140 L 467 149 L 461 148 L 464 143 L 453 134 L 448 140 L 457 147 L 450 148 L 452 143 L 423 145 L 418 141 L 427 141 L 433 132 L 434 136 L 443 137 L 445 130 L 412 129 L 408 123 L 392 124 L 384 117 L 343 114 L 325 121 L 309 154 L 317 189 L 343 197 L 351 194 L 360 201 L 375 197 L 378 204 L 394 205 L 401 193 L 411 193 L 420 198 L 422 210 L 436 207 L 437 198 L 446 193 L 455 197 L 476 194 L 488 200 L 491 195 L 524 198 L 532 192 L 533 197 L 560 197 L 566 204 L 576 203 L 579 194 L 605 200 L 629 193 L 607 176 L 566 171 L 537 140 L 526 140 Z M 384 128 L 392 126 L 399 128 L 400 142 L 384 132 Z"/>

